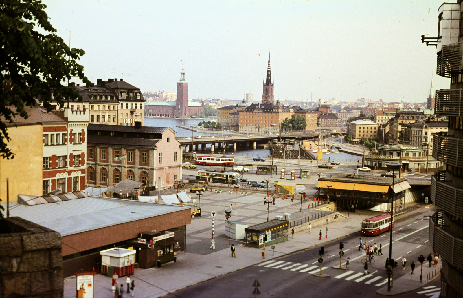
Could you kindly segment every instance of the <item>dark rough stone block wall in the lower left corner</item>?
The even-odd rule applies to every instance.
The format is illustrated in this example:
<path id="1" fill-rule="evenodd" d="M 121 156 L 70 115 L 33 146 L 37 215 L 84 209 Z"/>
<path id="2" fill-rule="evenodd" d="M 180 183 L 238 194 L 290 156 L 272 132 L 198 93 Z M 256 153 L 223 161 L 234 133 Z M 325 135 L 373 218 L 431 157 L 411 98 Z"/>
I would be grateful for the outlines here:
<path id="1" fill-rule="evenodd" d="M 20 217 L 0 220 L 0 297 L 62 298 L 61 235 Z"/>

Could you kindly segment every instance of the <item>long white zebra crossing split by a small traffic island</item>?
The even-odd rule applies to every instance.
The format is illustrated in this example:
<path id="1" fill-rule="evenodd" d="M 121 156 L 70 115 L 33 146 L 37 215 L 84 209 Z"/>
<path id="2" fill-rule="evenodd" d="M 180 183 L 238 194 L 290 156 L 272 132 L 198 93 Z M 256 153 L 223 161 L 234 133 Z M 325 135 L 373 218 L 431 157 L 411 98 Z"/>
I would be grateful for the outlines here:
<path id="1" fill-rule="evenodd" d="M 294 263 L 294 262 L 285 262 L 285 261 L 275 261 L 269 260 L 257 264 L 257 266 L 263 266 L 266 268 L 273 268 L 273 269 L 281 269 L 281 270 L 289 270 L 289 271 L 298 271 L 301 273 L 307 272 L 308 274 L 313 274 L 320 272 L 320 266 L 313 265 L 310 266 L 308 264 L 302 263 Z M 328 267 L 322 266 L 322 271 L 328 269 Z M 339 272 L 337 269 L 336 272 Z M 334 276 L 335 279 L 344 279 L 350 280 L 356 283 L 363 282 L 365 285 L 375 285 L 375 286 L 383 286 L 388 283 L 388 279 L 373 275 L 373 274 L 364 274 L 363 272 L 355 272 L 355 271 L 346 271 Z"/>

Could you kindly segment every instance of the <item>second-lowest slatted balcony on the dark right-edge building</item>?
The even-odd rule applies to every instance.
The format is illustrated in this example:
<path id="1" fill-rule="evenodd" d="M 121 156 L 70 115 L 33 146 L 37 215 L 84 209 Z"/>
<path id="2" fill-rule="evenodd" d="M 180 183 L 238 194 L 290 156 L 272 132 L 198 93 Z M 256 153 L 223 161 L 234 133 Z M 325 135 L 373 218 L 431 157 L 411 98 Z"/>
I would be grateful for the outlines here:
<path id="1" fill-rule="evenodd" d="M 445 183 L 443 171 L 431 178 L 431 201 L 445 212 L 463 217 L 463 188 Z"/>

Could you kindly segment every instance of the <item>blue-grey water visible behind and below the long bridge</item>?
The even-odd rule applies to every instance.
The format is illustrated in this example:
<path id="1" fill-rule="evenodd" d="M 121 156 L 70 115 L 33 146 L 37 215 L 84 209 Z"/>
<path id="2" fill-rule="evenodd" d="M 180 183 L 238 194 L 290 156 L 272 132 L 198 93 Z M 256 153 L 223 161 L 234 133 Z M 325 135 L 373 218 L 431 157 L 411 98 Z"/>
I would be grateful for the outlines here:
<path id="1" fill-rule="evenodd" d="M 211 119 L 194 119 L 194 125 L 197 125 L 198 123 L 202 121 L 211 121 Z M 172 118 L 145 118 L 144 119 L 145 126 L 160 126 L 160 127 L 171 127 L 173 130 L 175 130 L 176 137 L 185 137 L 185 136 L 192 136 L 191 130 L 185 130 L 180 127 L 176 126 L 191 126 L 191 119 L 172 119 Z M 208 133 L 198 133 L 194 132 L 194 136 L 197 135 L 202 135 L 202 136 L 216 136 L 217 137 L 217 143 L 220 142 L 221 138 L 223 137 L 223 131 L 222 132 L 208 132 Z M 210 148 L 210 145 L 207 145 L 207 148 Z M 267 158 L 270 156 L 270 150 L 269 149 L 262 149 L 262 147 L 257 146 L 256 149 L 252 148 L 252 144 L 250 144 L 249 147 L 246 146 L 241 146 L 238 147 L 236 150 L 231 150 L 228 151 L 230 154 L 233 155 L 244 155 L 244 156 L 252 156 L 252 157 L 257 157 L 257 156 L 263 156 L 264 158 Z M 323 154 L 322 155 L 322 160 L 328 160 L 330 158 L 330 161 L 339 161 L 339 162 L 357 162 L 357 158 L 359 156 L 357 155 L 352 155 L 349 153 L 344 153 L 344 152 L 339 152 L 339 153 L 330 153 L 330 154 Z"/>

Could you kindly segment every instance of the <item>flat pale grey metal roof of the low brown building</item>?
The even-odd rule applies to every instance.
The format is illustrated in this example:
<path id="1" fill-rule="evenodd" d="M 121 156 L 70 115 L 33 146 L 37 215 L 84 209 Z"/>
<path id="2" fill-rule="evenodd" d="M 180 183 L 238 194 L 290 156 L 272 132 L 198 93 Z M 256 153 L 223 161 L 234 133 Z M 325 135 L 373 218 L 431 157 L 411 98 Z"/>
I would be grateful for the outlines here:
<path id="1" fill-rule="evenodd" d="M 19 216 L 48 227 L 61 233 L 61 236 L 191 208 L 103 197 L 85 197 L 56 203 L 16 206 L 10 209 L 11 216 Z"/>

